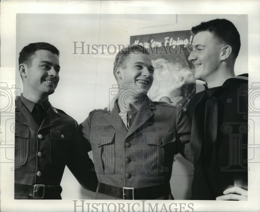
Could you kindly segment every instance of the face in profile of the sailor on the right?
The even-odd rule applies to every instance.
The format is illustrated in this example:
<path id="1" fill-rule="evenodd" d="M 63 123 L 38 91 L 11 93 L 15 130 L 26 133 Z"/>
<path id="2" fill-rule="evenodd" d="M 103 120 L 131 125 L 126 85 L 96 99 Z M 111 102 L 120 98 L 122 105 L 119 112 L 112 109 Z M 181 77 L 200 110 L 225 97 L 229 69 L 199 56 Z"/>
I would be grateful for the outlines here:
<path id="1" fill-rule="evenodd" d="M 194 53 L 189 56 L 189 61 L 195 66 L 195 79 L 207 82 L 215 78 L 220 67 L 222 44 L 208 31 L 202 31 L 193 38 Z"/>

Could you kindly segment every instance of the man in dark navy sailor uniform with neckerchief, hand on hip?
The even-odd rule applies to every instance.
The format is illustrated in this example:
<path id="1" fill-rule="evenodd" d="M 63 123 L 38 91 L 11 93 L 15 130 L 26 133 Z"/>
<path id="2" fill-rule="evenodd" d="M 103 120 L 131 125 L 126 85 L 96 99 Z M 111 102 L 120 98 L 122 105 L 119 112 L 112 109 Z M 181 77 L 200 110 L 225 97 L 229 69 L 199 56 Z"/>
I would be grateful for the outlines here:
<path id="1" fill-rule="evenodd" d="M 226 19 L 192 29 L 195 79 L 205 84 L 187 106 L 192 120 L 194 200 L 247 200 L 248 74 L 235 76 L 240 36 Z M 241 95 L 242 94 L 242 95 Z"/>

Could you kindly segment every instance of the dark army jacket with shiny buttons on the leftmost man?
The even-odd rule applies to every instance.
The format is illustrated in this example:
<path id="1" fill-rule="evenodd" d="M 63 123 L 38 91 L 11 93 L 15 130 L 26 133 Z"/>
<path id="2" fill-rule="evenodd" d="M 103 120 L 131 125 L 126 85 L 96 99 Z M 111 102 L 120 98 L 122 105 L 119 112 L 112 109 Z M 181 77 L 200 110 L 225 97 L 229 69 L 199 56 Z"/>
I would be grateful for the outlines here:
<path id="1" fill-rule="evenodd" d="M 49 103 L 39 127 L 20 97 L 15 105 L 15 182 L 57 186 L 67 165 L 84 188 L 95 191 L 90 146 L 82 141 L 77 122 Z M 22 195 L 15 198 L 30 199 Z"/>

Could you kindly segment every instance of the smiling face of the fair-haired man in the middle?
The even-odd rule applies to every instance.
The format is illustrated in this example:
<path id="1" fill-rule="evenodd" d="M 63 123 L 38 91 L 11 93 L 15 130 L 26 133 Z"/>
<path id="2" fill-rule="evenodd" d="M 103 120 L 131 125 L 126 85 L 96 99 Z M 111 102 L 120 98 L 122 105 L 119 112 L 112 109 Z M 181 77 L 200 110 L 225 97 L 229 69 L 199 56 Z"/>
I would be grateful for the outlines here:
<path id="1" fill-rule="evenodd" d="M 130 54 L 125 61 L 126 68 L 120 68 L 121 87 L 133 87 L 141 94 L 147 94 L 153 83 L 152 61 L 147 54 Z"/>

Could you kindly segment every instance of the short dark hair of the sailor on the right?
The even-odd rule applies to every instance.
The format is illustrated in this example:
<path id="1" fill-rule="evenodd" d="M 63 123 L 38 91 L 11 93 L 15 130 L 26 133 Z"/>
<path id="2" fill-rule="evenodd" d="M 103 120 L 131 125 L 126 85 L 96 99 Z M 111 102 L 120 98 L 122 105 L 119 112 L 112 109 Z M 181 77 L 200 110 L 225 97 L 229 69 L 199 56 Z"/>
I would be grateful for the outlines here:
<path id="1" fill-rule="evenodd" d="M 211 32 L 220 42 L 230 45 L 235 58 L 237 58 L 241 46 L 240 35 L 231 21 L 227 19 L 214 19 L 201 22 L 199 25 L 191 28 L 192 35 L 203 31 Z"/>

